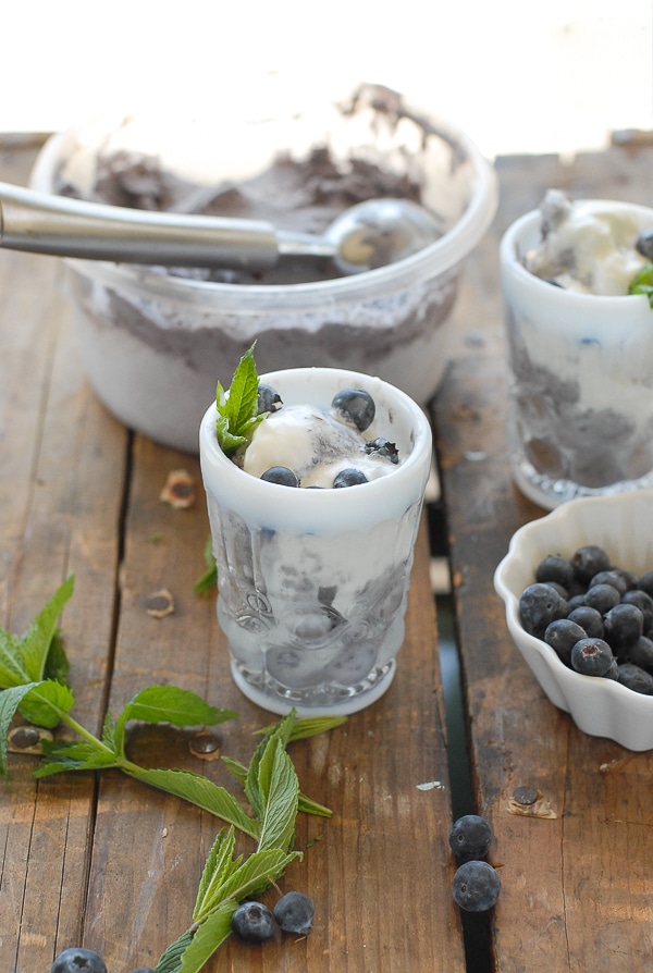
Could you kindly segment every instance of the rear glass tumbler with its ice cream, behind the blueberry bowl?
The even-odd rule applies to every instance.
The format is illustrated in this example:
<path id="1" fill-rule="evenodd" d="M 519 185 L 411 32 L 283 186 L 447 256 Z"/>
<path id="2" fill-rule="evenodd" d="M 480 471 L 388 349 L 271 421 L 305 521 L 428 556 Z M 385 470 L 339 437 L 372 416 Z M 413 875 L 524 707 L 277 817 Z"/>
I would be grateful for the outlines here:
<path id="1" fill-rule="evenodd" d="M 653 209 L 550 190 L 501 244 L 513 478 L 551 509 L 653 485 Z"/>

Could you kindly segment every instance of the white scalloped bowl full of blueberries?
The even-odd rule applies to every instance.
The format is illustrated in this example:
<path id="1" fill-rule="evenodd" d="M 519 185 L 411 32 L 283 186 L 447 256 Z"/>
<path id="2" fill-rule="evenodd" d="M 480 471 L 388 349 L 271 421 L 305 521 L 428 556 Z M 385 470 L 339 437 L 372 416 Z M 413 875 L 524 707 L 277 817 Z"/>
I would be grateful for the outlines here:
<path id="1" fill-rule="evenodd" d="M 653 491 L 569 501 L 513 535 L 494 575 L 508 631 L 583 732 L 653 748 Z"/>

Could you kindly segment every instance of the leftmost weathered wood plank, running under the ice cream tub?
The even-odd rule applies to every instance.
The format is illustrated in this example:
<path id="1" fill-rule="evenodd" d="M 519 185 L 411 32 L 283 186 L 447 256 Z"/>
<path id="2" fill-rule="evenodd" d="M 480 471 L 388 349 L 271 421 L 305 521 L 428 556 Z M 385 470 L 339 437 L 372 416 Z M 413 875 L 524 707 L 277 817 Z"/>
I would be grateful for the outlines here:
<path id="1" fill-rule="evenodd" d="M 0 153 L 24 182 L 32 151 Z M 125 433 L 90 395 L 78 361 L 63 267 L 0 253 L 0 621 L 22 632 L 61 581 L 78 718 L 101 725 L 109 673 Z M 95 787 L 90 776 L 36 784 L 10 756 L 0 800 L 0 968 L 46 969 L 77 941 Z"/>

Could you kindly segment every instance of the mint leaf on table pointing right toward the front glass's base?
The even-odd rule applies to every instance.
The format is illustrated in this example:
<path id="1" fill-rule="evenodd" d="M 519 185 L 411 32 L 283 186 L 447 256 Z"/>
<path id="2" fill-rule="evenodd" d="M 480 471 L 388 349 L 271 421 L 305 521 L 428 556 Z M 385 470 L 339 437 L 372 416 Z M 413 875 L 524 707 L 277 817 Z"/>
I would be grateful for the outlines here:
<path id="1" fill-rule="evenodd" d="M 123 750 L 125 725 L 130 719 L 141 723 L 170 723 L 173 726 L 214 726 L 233 719 L 233 710 L 210 706 L 189 689 L 176 686 L 149 686 L 126 704 L 115 723 L 115 739 Z"/>

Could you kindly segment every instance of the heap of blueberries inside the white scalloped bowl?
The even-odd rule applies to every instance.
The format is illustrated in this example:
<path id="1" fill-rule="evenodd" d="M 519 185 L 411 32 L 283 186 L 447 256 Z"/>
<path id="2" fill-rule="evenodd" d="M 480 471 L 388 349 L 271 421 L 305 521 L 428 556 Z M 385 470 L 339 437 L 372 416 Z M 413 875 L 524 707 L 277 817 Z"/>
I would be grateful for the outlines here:
<path id="1" fill-rule="evenodd" d="M 653 695 L 653 570 L 638 576 L 587 544 L 549 554 L 534 576 L 519 600 L 525 629 L 569 668 Z"/>

